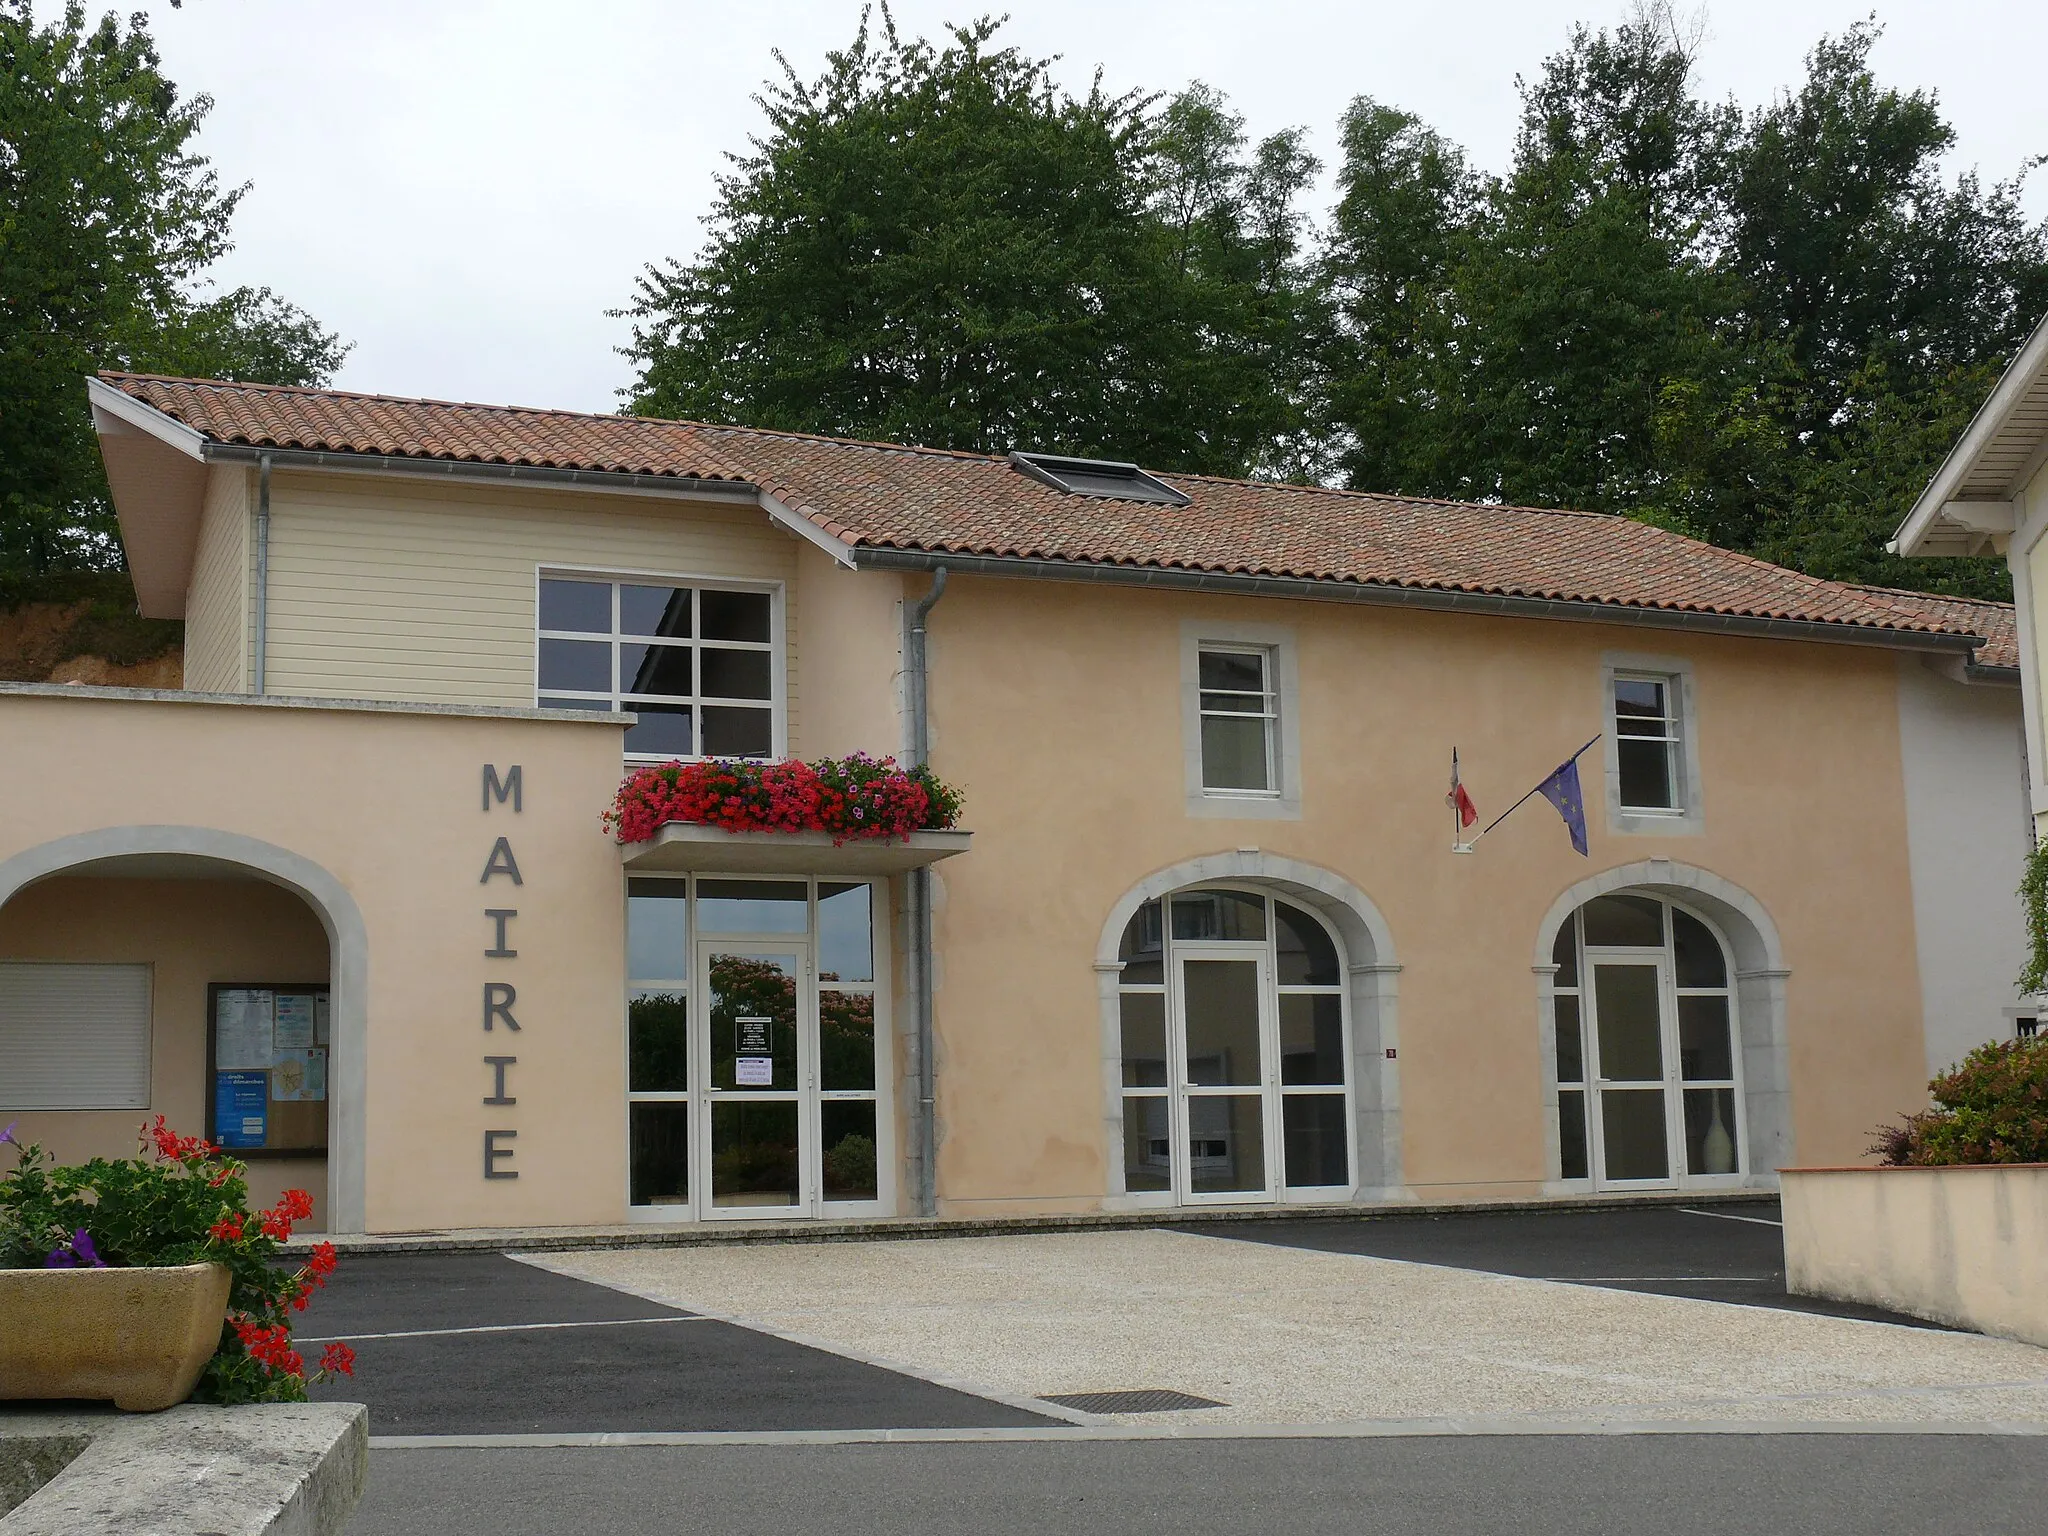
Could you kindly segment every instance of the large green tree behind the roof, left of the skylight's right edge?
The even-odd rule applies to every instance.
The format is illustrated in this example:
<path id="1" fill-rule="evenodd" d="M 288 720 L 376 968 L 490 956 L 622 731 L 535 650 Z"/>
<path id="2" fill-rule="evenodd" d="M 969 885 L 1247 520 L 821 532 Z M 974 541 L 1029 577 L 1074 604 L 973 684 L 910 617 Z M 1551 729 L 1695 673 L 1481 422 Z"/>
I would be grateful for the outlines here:
<path id="1" fill-rule="evenodd" d="M 997 23 L 760 94 L 694 260 L 649 266 L 643 414 L 1243 473 L 1294 420 L 1300 139 L 1212 92 L 1063 92 Z M 780 59 L 778 59 L 780 61 Z"/>

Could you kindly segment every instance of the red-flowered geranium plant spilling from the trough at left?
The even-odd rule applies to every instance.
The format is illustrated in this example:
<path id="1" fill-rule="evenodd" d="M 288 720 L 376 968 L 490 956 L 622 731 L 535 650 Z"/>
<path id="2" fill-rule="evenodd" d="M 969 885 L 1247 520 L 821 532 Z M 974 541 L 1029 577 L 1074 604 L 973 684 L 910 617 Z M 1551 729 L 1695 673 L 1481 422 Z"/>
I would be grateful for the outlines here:
<path id="1" fill-rule="evenodd" d="M 176 1135 L 164 1116 L 143 1126 L 147 1157 L 53 1167 L 41 1147 L 14 1141 L 14 1126 L 0 1141 L 16 1153 L 0 1176 L 0 1270 L 227 1266 L 227 1319 L 197 1401 L 303 1403 L 307 1382 L 352 1374 L 346 1343 L 330 1343 L 311 1374 L 291 1348 L 293 1315 L 334 1274 L 334 1243 L 319 1243 L 297 1270 L 279 1264 L 293 1223 L 313 1214 L 305 1190 L 250 1210 L 248 1167 L 209 1141 Z"/>

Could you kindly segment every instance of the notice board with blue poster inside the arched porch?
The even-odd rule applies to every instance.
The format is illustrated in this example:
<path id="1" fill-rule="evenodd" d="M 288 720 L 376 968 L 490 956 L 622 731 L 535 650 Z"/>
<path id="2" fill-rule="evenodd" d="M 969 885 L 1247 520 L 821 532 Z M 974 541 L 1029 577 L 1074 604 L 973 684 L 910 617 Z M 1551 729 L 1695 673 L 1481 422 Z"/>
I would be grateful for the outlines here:
<path id="1" fill-rule="evenodd" d="M 328 1151 L 328 983 L 207 987 L 207 1141 L 236 1157 Z"/>

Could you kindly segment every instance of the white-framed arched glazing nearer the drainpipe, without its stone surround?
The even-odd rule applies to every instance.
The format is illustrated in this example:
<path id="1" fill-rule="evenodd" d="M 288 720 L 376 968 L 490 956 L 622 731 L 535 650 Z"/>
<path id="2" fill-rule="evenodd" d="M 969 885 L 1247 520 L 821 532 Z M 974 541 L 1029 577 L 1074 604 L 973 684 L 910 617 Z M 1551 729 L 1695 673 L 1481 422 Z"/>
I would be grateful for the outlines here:
<path id="1" fill-rule="evenodd" d="M 1118 958 L 1124 1192 L 1346 1198 L 1346 969 L 1321 918 L 1266 891 L 1190 887 L 1141 905 Z"/>

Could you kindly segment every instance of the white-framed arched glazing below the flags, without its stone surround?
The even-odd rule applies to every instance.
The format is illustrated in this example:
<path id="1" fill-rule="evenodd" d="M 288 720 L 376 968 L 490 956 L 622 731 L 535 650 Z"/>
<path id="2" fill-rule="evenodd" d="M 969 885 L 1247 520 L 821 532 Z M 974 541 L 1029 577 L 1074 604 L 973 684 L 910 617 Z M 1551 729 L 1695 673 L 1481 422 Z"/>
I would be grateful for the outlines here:
<path id="1" fill-rule="evenodd" d="M 1720 934 L 1675 901 L 1616 891 L 1565 920 L 1550 958 L 1559 1176 L 1739 1184 L 1743 1061 Z"/>

